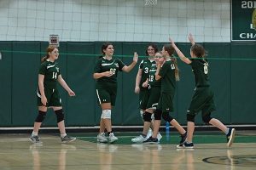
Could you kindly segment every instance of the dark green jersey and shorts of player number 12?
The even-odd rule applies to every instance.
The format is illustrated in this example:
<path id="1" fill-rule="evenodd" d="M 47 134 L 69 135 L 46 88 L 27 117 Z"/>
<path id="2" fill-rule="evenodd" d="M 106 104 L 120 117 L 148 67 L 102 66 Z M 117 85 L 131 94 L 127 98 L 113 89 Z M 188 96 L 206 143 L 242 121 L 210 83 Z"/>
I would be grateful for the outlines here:
<path id="1" fill-rule="evenodd" d="M 148 103 L 147 109 L 156 109 L 158 105 L 158 101 L 160 98 L 160 80 L 155 80 L 155 72 L 157 70 L 156 62 L 153 60 L 151 61 L 150 69 L 148 72 L 148 84 L 149 84 L 149 91 L 148 91 Z"/>

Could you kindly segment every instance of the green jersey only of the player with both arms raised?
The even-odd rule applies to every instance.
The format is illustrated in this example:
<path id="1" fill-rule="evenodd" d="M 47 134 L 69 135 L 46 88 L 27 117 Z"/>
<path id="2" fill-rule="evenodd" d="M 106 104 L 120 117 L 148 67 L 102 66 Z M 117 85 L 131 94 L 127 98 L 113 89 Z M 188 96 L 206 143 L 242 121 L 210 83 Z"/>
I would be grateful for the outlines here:
<path id="1" fill-rule="evenodd" d="M 190 65 L 195 76 L 195 87 L 210 86 L 208 77 L 209 64 L 204 59 L 191 59 Z"/>

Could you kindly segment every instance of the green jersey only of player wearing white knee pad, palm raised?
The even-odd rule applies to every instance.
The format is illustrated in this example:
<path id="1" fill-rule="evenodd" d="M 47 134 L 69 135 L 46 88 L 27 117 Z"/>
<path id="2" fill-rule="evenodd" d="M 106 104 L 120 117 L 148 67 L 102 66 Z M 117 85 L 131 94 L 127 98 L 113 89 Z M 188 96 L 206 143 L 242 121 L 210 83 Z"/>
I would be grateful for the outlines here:
<path id="1" fill-rule="evenodd" d="M 98 59 L 94 67 L 94 73 L 102 73 L 105 71 L 112 71 L 113 75 L 111 77 L 101 77 L 97 79 L 98 83 L 104 82 L 117 82 L 118 71 L 122 71 L 125 64 L 120 59 L 106 59 L 102 57 Z"/>

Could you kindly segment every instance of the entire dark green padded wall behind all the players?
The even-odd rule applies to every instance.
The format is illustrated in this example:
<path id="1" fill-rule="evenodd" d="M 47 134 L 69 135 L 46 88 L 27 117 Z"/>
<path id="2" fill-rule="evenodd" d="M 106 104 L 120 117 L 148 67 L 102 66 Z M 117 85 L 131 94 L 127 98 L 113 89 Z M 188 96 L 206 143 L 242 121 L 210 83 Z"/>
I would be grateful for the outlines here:
<path id="1" fill-rule="evenodd" d="M 164 43 L 156 43 L 161 49 Z M 148 42 L 113 42 L 115 57 L 130 65 L 133 52 L 142 56 Z M 253 43 L 203 43 L 210 61 L 210 80 L 215 94 L 217 111 L 212 113 L 225 124 L 256 123 L 256 61 Z M 32 126 L 38 114 L 36 91 L 38 68 L 48 42 L 0 42 L 0 126 Z M 189 57 L 189 43 L 177 43 Z M 96 104 L 93 69 L 101 54 L 102 42 L 61 42 L 61 75 L 76 97 L 70 98 L 59 86 L 67 126 L 95 126 L 102 115 Z M 27 53 L 29 52 L 29 53 Z M 84 55 L 83 55 L 84 54 Z M 121 55 L 121 56 L 120 56 Z M 242 60 L 251 58 L 254 60 Z M 119 72 L 118 96 L 113 108 L 113 125 L 142 125 L 138 110 L 138 95 L 134 94 L 136 67 L 129 73 Z M 177 82 L 174 109 L 171 113 L 186 124 L 186 111 L 194 94 L 195 81 L 191 66 L 177 59 L 180 82 Z M 4 80 L 4 81 L 3 81 Z M 196 116 L 196 124 L 203 124 Z M 163 122 L 164 123 L 164 122 Z M 43 126 L 56 126 L 55 113 L 48 111 Z"/>

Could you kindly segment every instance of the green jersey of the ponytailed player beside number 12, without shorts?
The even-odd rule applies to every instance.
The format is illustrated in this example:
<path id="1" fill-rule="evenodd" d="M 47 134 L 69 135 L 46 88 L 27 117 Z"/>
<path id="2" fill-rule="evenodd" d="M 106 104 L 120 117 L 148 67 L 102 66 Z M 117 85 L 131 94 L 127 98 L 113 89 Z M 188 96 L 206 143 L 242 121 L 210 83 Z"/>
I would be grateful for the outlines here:
<path id="1" fill-rule="evenodd" d="M 166 60 L 161 66 L 159 75 L 161 77 L 161 92 L 174 94 L 176 88 L 175 65 L 172 59 Z"/>

